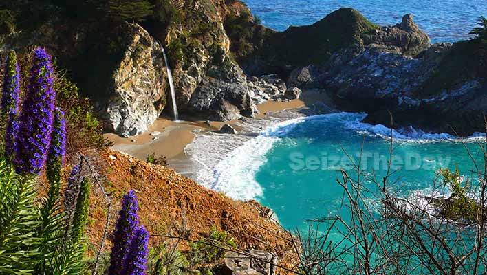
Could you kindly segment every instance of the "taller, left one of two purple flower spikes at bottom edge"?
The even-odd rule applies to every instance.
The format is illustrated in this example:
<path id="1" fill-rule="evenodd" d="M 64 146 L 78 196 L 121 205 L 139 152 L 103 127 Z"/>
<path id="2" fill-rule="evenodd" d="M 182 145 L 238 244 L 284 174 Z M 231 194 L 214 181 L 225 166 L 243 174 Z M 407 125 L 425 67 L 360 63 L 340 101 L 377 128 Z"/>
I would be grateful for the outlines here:
<path id="1" fill-rule="evenodd" d="M 110 254 L 109 275 L 125 274 L 125 259 L 129 254 L 130 241 L 139 224 L 137 216 L 138 204 L 133 190 L 124 195 L 122 209 L 120 209 L 115 232 L 113 232 L 113 247 Z"/>

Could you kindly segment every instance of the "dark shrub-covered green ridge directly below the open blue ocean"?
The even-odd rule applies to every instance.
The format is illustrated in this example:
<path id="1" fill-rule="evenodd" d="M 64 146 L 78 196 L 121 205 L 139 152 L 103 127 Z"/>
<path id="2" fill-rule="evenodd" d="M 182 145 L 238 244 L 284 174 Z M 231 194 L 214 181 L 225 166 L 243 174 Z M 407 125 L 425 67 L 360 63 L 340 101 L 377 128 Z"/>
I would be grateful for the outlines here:
<path id="1" fill-rule="evenodd" d="M 362 34 L 378 28 L 351 8 L 341 8 L 313 25 L 290 27 L 284 32 L 257 25 L 250 13 L 230 15 L 224 26 L 237 61 L 255 58 L 266 64 L 266 70 L 257 74 L 277 73 L 283 77 L 289 73 L 289 67 L 320 64 L 334 52 L 360 45 Z"/>

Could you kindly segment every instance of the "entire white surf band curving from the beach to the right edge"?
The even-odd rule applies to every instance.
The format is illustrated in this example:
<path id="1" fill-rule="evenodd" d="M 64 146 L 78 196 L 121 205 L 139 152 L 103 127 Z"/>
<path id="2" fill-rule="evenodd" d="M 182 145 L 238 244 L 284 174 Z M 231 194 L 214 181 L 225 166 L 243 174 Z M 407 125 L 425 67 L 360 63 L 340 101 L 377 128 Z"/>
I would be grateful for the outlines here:
<path id="1" fill-rule="evenodd" d="M 392 133 L 396 140 L 456 140 L 453 135 L 446 133 L 424 133 L 411 127 L 396 131 L 384 125 L 360 122 L 367 116 L 365 113 L 341 112 L 308 117 L 292 111 L 283 113 L 287 115 L 271 116 L 250 123 L 241 122 L 239 126 L 242 127 L 242 131 L 238 135 L 197 135 L 195 141 L 185 148 L 186 154 L 195 163 L 197 181 L 234 199 L 248 200 L 263 196 L 263 188 L 255 180 L 255 175 L 259 168 L 266 164 L 267 153 L 275 142 L 288 135 L 296 126 L 311 120 L 339 122 L 347 130 L 384 138 L 390 137 Z M 484 136 L 476 133 L 470 139 Z"/>

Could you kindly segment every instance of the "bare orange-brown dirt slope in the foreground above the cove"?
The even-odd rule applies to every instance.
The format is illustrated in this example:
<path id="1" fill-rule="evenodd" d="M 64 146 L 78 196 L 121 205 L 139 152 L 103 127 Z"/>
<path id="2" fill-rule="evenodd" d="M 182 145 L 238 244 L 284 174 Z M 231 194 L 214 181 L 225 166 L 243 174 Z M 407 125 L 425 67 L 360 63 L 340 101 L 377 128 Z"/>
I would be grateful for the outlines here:
<path id="1" fill-rule="evenodd" d="M 135 190 L 141 223 L 151 235 L 177 236 L 177 230 L 184 228 L 187 234 L 184 237 L 198 240 L 215 226 L 228 232 L 242 250 L 262 249 L 274 252 L 280 259 L 293 251 L 288 232 L 266 216 L 268 208 L 255 201 L 233 201 L 174 170 L 118 152 L 96 152 L 94 159 L 107 176 L 103 187 L 113 201 L 120 201 L 128 190 Z M 90 218 L 94 223 L 89 225 L 89 241 L 99 243 L 107 218 L 107 201 L 98 190 L 93 192 L 90 201 Z M 112 219 L 119 208 L 115 203 Z M 109 232 L 112 230 L 109 228 Z M 151 237 L 151 245 L 155 247 L 164 240 Z"/>

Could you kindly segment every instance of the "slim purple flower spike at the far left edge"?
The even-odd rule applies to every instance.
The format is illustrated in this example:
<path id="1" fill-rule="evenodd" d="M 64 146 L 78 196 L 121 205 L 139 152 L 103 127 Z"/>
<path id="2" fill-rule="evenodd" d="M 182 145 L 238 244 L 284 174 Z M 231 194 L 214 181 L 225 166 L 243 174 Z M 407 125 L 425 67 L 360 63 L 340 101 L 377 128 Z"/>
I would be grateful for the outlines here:
<path id="1" fill-rule="evenodd" d="M 6 123 L 5 156 L 12 160 L 16 147 L 17 133 L 19 131 L 19 99 L 20 74 L 17 64 L 17 54 L 10 51 L 5 65 L 3 77 L 3 90 L 1 97 L 1 118 Z"/>

